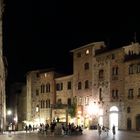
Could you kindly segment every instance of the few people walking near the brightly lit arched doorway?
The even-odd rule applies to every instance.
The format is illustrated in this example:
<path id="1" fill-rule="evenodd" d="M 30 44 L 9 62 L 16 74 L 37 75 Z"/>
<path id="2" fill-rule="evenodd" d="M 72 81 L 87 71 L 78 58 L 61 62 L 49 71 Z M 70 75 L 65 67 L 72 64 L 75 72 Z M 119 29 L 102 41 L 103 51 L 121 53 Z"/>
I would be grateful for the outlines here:
<path id="1" fill-rule="evenodd" d="M 106 132 L 107 135 L 108 135 L 108 132 L 109 132 L 109 128 L 108 127 L 101 126 L 101 125 L 98 124 L 97 129 L 98 129 L 99 136 L 101 135 L 102 131 Z M 112 133 L 113 133 L 113 135 L 116 134 L 115 125 L 112 126 Z"/>

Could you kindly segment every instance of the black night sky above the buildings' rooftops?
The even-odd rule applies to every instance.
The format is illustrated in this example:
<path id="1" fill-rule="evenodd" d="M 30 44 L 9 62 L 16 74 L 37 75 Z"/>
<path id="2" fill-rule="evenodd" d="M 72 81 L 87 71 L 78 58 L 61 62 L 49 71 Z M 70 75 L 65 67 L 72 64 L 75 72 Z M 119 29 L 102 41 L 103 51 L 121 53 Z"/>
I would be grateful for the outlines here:
<path id="1" fill-rule="evenodd" d="M 86 43 L 106 41 L 120 47 L 134 41 L 134 32 L 139 41 L 136 3 L 75 1 L 7 0 L 3 48 L 9 82 L 23 81 L 27 71 L 40 68 L 71 72 L 69 51 Z"/>

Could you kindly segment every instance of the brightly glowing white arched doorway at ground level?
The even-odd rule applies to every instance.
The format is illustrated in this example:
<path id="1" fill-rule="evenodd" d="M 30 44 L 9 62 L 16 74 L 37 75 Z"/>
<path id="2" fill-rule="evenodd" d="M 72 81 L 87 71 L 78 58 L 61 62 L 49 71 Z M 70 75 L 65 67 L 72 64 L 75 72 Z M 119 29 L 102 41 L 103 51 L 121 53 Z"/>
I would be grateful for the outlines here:
<path id="1" fill-rule="evenodd" d="M 113 125 L 115 125 L 116 130 L 118 129 L 118 107 L 112 106 L 110 108 L 110 115 L 109 115 L 109 127 L 112 129 Z"/>

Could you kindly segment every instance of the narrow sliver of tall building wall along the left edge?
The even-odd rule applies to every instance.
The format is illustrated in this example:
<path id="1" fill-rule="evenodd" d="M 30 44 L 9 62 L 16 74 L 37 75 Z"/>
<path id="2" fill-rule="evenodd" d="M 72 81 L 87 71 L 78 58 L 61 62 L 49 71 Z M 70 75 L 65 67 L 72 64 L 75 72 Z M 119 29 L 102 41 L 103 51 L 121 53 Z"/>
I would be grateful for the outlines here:
<path id="1" fill-rule="evenodd" d="M 5 57 L 3 56 L 3 43 L 2 43 L 2 14 L 3 14 L 3 1 L 0 0 L 0 131 L 6 129 L 6 95 L 5 95 Z"/>

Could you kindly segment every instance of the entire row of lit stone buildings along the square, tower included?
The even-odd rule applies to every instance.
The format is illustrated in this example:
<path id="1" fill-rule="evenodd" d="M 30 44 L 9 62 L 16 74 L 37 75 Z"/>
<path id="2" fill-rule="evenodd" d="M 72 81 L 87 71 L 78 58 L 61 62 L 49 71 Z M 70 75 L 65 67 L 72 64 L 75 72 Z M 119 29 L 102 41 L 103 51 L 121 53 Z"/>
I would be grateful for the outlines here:
<path id="1" fill-rule="evenodd" d="M 52 70 L 27 74 L 27 121 L 140 130 L 140 44 L 108 49 L 104 42 L 93 42 L 71 52 L 72 75 Z"/>

